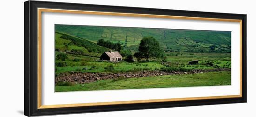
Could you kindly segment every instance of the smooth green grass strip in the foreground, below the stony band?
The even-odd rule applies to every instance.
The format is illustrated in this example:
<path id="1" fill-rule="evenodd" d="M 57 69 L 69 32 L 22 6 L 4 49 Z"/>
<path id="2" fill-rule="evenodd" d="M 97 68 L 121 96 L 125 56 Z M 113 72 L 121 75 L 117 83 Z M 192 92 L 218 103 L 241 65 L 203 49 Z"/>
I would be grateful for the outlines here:
<path id="1" fill-rule="evenodd" d="M 231 72 L 207 72 L 186 75 L 167 75 L 144 78 L 119 78 L 100 80 L 89 84 L 55 86 L 55 91 L 93 91 L 118 89 L 144 89 L 188 86 L 231 85 Z"/>

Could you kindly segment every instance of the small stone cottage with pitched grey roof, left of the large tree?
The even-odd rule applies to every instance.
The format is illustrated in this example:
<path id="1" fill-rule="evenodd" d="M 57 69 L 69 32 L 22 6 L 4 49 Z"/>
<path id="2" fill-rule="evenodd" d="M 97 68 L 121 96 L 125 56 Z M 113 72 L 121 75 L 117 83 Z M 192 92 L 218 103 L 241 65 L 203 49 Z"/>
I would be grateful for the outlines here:
<path id="1" fill-rule="evenodd" d="M 107 60 L 107 61 L 111 61 L 111 62 L 118 62 L 122 60 L 122 56 L 119 52 L 104 52 L 102 53 L 101 60 Z"/>

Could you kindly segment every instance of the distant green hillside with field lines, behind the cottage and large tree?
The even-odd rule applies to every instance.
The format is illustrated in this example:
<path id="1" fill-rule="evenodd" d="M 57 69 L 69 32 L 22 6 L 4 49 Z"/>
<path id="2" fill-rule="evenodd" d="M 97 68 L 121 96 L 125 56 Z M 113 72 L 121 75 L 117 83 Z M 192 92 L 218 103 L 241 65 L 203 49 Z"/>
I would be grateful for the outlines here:
<path id="1" fill-rule="evenodd" d="M 230 52 L 231 32 L 178 29 L 155 29 L 111 26 L 55 25 L 55 31 L 74 35 L 94 43 L 109 40 L 137 51 L 143 37 L 157 39 L 166 52 Z M 214 50 L 210 46 L 214 45 Z"/>

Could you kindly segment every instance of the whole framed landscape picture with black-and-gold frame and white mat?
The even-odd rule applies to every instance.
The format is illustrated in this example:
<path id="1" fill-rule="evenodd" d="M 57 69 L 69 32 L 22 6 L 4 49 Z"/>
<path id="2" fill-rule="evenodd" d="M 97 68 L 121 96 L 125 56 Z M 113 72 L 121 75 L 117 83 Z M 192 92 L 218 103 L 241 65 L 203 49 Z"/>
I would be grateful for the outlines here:
<path id="1" fill-rule="evenodd" d="M 246 103 L 246 24 L 246 14 L 26 1 L 24 115 Z"/>

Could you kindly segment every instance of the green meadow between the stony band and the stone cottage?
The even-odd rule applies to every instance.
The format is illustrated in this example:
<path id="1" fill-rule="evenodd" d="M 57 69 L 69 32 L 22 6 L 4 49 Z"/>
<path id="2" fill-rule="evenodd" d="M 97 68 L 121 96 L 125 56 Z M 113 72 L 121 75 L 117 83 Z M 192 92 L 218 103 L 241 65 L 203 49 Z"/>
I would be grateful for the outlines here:
<path id="1" fill-rule="evenodd" d="M 230 53 L 191 53 L 191 52 L 166 52 L 168 57 L 167 64 L 161 61 L 150 62 L 134 62 L 126 61 L 111 63 L 99 60 L 99 58 L 87 57 L 81 55 L 67 54 L 65 60 L 66 66 L 56 66 L 55 73 L 78 71 L 78 72 L 105 72 L 105 67 L 113 65 L 115 70 L 112 72 L 142 71 L 142 70 L 160 70 L 165 67 L 177 67 L 184 69 L 215 69 L 215 68 L 231 68 Z M 79 59 L 80 61 L 74 61 Z M 154 59 L 153 59 L 154 60 Z M 190 60 L 199 60 L 198 65 L 188 65 Z M 55 62 L 63 62 L 55 60 Z M 207 65 L 212 62 L 213 65 Z"/>

